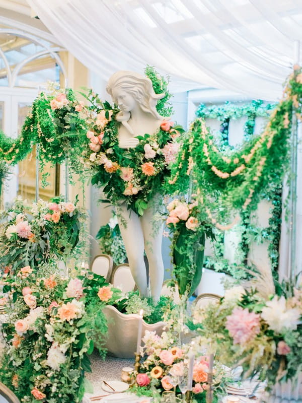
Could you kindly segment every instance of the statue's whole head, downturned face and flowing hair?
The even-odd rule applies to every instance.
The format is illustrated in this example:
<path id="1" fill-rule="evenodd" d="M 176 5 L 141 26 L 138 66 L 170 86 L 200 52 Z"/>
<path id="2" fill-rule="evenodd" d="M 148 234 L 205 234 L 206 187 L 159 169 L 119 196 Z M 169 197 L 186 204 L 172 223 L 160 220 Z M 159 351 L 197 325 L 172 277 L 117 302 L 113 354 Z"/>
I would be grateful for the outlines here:
<path id="1" fill-rule="evenodd" d="M 134 72 L 119 71 L 110 77 L 106 90 L 121 109 L 116 115 L 118 121 L 129 120 L 134 102 L 144 112 L 151 113 L 157 119 L 161 118 L 156 105 L 165 94 L 156 94 L 152 81 L 147 77 Z"/>

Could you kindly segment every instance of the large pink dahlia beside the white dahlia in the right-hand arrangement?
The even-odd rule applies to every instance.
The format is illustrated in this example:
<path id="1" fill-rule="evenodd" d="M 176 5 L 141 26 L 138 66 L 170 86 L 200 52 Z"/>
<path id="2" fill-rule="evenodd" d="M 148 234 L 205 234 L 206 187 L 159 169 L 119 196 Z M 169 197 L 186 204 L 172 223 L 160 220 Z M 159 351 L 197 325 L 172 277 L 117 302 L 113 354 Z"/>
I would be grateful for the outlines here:
<path id="1" fill-rule="evenodd" d="M 260 315 L 249 312 L 248 308 L 234 308 L 231 315 L 226 316 L 226 329 L 234 339 L 234 344 L 244 345 L 260 332 Z"/>

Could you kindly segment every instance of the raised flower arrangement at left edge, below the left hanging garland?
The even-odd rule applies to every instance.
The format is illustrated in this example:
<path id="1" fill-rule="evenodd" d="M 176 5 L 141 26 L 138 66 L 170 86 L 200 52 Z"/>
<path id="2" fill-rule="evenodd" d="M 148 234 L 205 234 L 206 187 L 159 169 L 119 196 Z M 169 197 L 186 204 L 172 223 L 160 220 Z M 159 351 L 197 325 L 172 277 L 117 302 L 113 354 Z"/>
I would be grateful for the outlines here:
<path id="1" fill-rule="evenodd" d="M 0 213 L 0 268 L 12 275 L 17 268 L 36 267 L 54 257 L 69 256 L 79 242 L 84 211 L 59 197 L 39 200 L 28 212 L 21 197 Z"/>

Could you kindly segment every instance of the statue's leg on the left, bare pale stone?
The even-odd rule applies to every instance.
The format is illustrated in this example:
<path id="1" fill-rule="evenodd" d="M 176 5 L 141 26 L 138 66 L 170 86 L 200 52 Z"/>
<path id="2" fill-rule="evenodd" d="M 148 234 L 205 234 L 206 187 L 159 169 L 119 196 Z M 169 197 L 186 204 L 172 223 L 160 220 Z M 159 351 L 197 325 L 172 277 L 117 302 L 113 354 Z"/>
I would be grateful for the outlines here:
<path id="1" fill-rule="evenodd" d="M 147 297 L 147 274 L 143 260 L 143 232 L 138 216 L 126 205 L 116 207 L 118 224 L 124 241 L 130 270 L 141 297 Z"/>

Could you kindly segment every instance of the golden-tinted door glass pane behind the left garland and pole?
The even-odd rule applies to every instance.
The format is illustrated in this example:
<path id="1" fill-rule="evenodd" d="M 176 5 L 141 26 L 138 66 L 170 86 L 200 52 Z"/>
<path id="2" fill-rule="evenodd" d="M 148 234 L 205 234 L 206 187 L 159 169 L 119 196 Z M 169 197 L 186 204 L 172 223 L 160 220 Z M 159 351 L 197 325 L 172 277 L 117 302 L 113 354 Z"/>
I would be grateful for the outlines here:
<path id="1" fill-rule="evenodd" d="M 31 110 L 31 105 L 24 102 L 18 104 L 18 132 L 24 124 L 24 120 L 27 114 Z M 47 164 L 44 168 L 44 172 L 49 172 L 47 181 L 49 185 L 46 188 L 41 186 L 41 176 L 39 173 L 39 197 L 48 200 L 55 195 L 56 189 L 56 169 L 51 168 L 50 164 Z M 19 186 L 18 194 L 24 199 L 27 199 L 29 203 L 35 200 L 36 196 L 36 148 L 30 153 L 30 155 L 19 163 Z"/>

